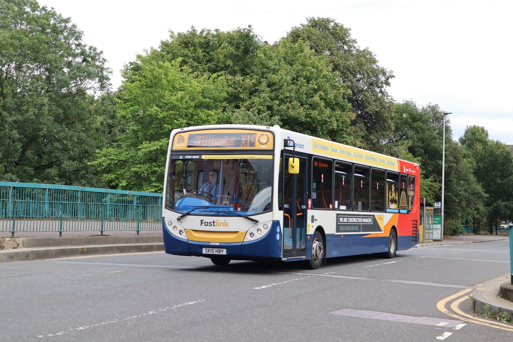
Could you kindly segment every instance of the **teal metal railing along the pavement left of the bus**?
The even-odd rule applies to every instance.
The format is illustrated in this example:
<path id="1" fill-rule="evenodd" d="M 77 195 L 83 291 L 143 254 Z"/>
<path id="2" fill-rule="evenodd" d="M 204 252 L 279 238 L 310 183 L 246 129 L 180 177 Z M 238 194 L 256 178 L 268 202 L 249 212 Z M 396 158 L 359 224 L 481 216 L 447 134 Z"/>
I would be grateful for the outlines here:
<path id="1" fill-rule="evenodd" d="M 0 232 L 162 229 L 162 194 L 0 182 Z"/>

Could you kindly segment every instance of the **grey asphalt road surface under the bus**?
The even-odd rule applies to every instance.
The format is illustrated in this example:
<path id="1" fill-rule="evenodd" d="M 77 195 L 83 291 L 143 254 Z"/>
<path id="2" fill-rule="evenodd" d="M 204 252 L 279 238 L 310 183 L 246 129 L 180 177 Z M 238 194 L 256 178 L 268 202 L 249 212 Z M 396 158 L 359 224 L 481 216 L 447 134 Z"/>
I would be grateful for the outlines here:
<path id="1" fill-rule="evenodd" d="M 468 321 L 456 330 L 330 314 L 455 320 L 440 300 L 508 272 L 507 241 L 340 257 L 315 271 L 165 253 L 16 261 L 0 264 L 0 340 L 511 341 L 513 329 Z"/>

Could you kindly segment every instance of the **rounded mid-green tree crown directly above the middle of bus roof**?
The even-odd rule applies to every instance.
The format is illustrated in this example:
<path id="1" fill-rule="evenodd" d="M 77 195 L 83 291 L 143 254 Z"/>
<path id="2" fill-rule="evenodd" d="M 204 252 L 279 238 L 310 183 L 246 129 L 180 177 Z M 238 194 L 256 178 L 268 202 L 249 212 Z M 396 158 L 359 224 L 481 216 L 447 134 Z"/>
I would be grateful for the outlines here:
<path id="1" fill-rule="evenodd" d="M 325 57 L 303 42 L 263 45 L 250 74 L 234 83 L 244 99 L 231 105 L 234 123 L 280 125 L 285 129 L 348 142 L 352 114 L 338 74 Z"/>

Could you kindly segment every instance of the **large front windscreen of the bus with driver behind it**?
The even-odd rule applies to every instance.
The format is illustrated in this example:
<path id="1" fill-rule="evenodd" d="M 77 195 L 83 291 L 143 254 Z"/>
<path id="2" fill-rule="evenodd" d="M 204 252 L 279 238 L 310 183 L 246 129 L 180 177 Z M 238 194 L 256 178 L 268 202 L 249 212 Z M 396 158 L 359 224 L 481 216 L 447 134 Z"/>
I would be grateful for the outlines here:
<path id="1" fill-rule="evenodd" d="M 181 159 L 182 157 L 182 159 Z M 186 212 L 234 210 L 258 213 L 270 210 L 272 156 L 208 156 L 183 159 L 171 156 L 166 208 Z"/>

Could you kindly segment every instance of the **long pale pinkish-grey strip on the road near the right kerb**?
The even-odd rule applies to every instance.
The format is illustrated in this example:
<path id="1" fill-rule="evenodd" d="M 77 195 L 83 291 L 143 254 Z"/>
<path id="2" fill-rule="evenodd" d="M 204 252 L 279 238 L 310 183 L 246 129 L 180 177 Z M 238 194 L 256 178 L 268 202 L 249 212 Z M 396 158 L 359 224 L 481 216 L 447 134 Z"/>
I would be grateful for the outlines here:
<path id="1" fill-rule="evenodd" d="M 400 315 L 400 314 L 381 312 L 381 311 L 369 311 L 369 310 L 348 309 L 348 308 L 333 311 L 333 312 L 330 312 L 330 314 L 340 315 L 340 316 L 349 316 L 349 317 L 390 320 L 390 321 L 402 322 L 402 323 L 415 323 L 415 324 L 423 324 L 426 326 L 437 326 L 437 327 L 443 326 L 445 328 L 456 327 L 457 325 L 463 323 L 463 321 L 455 320 L 455 319 L 443 319 L 443 318 L 441 319 L 441 318 L 424 317 L 424 316 Z"/>

